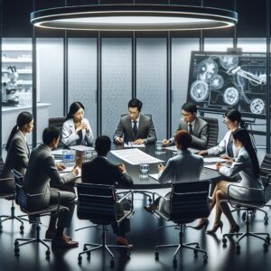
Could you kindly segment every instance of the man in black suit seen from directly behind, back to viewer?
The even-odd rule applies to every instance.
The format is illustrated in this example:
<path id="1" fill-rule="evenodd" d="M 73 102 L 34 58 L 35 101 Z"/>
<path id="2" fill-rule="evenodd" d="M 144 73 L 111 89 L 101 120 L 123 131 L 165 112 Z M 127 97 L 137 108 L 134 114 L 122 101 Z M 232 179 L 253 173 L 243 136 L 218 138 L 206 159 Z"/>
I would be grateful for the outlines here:
<path id="1" fill-rule="evenodd" d="M 95 150 L 98 156 L 92 161 L 82 164 L 82 182 L 116 185 L 121 184 L 124 187 L 133 185 L 132 178 L 126 173 L 125 164 L 111 164 L 107 161 L 107 153 L 111 149 L 111 140 L 107 135 L 101 135 L 96 139 Z M 119 206 L 119 212 L 126 210 L 128 202 Z M 112 224 L 114 232 L 117 234 L 117 244 L 129 246 L 126 240 L 126 232 L 130 230 L 130 220 L 122 220 L 119 225 Z"/>

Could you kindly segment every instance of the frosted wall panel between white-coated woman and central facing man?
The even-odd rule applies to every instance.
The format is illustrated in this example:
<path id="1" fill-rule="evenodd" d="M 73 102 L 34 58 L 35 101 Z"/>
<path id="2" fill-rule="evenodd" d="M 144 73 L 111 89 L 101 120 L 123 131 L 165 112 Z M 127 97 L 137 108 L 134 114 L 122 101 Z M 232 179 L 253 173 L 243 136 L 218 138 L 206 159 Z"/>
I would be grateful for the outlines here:
<path id="1" fill-rule="evenodd" d="M 114 135 L 132 97 L 132 40 L 102 39 L 102 134 Z"/>

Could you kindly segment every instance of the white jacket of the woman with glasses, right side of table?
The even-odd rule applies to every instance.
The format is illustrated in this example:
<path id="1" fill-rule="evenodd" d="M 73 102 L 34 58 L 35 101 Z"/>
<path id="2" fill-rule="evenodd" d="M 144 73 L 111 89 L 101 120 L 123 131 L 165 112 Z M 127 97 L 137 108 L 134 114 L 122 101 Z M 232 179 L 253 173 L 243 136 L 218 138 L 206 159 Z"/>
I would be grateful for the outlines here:
<path id="1" fill-rule="evenodd" d="M 228 153 L 228 144 L 229 144 L 229 138 L 231 136 L 232 131 L 228 131 L 226 133 L 226 135 L 224 136 L 224 138 L 220 141 L 219 145 L 216 145 L 212 148 L 210 148 L 207 152 L 208 155 L 219 155 L 219 154 L 224 154 L 226 153 L 227 155 L 229 155 Z M 250 134 L 249 134 L 250 135 Z M 257 152 L 257 147 L 255 145 L 255 140 L 253 135 L 250 135 L 250 140 L 251 143 L 255 149 L 255 151 Z M 239 152 L 240 148 L 236 147 L 234 144 L 232 144 L 232 153 L 233 153 L 233 157 L 232 158 L 237 158 L 238 157 L 238 152 Z"/>

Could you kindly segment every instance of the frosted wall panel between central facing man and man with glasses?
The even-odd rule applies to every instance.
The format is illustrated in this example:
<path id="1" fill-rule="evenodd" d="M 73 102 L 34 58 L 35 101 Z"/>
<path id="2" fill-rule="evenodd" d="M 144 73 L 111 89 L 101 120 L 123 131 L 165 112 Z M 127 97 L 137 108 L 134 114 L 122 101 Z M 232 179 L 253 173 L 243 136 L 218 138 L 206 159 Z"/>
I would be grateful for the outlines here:
<path id="1" fill-rule="evenodd" d="M 166 136 L 166 39 L 136 40 L 136 97 L 152 114 L 158 139 Z"/>

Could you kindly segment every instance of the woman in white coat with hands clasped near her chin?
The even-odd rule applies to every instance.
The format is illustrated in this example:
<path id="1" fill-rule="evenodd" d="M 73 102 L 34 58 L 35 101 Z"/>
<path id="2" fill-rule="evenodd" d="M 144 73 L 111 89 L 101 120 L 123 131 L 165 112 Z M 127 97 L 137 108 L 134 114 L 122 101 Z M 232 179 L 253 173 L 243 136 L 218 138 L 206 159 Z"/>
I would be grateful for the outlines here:
<path id="1" fill-rule="evenodd" d="M 62 142 L 64 145 L 91 145 L 94 136 L 89 120 L 84 118 L 85 107 L 79 102 L 70 105 L 69 113 L 62 128 Z"/>

